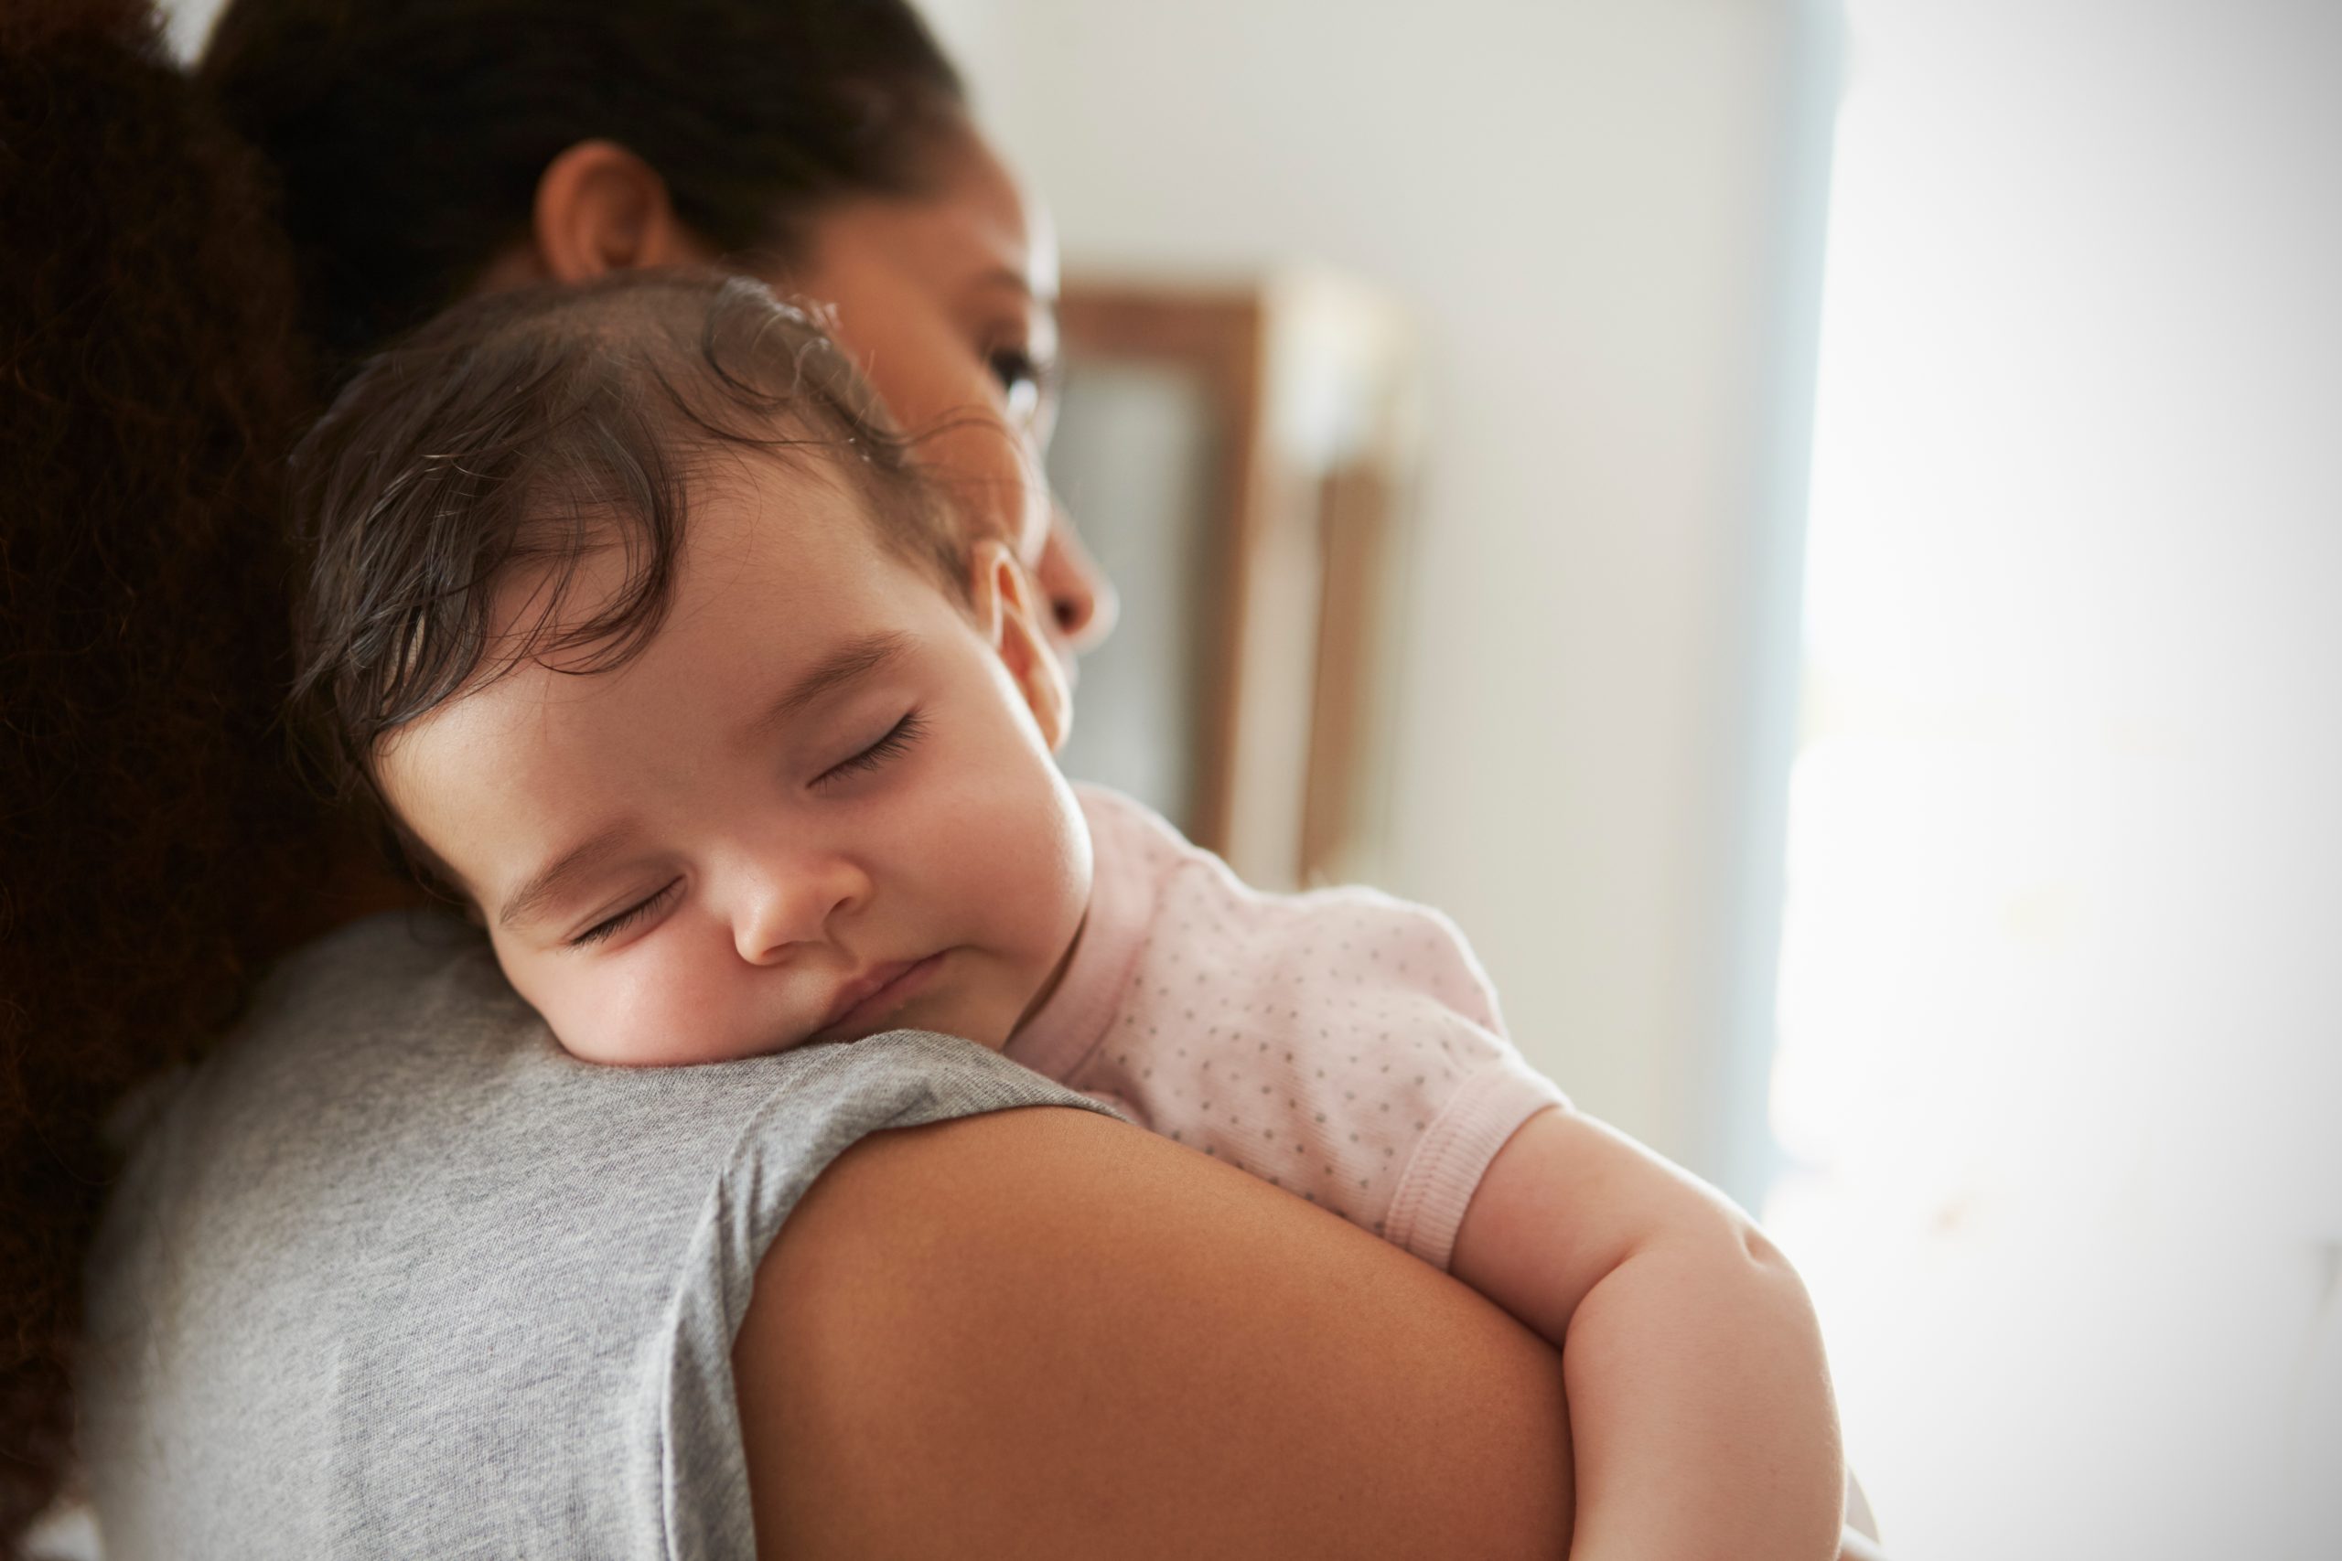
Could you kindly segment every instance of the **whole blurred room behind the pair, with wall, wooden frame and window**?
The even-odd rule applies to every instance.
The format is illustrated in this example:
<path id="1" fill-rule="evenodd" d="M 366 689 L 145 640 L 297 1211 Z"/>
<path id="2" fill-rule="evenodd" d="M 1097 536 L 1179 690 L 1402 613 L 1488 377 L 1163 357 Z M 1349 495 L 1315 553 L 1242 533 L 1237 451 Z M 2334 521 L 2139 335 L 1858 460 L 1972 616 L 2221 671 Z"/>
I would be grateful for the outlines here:
<path id="1" fill-rule="evenodd" d="M 1450 910 L 1890 1554 L 2342 1556 L 2342 5 L 930 14 L 1068 257 L 1068 768 Z"/>

